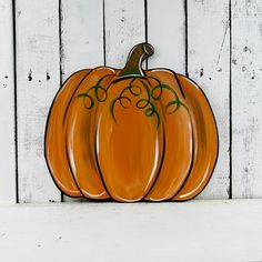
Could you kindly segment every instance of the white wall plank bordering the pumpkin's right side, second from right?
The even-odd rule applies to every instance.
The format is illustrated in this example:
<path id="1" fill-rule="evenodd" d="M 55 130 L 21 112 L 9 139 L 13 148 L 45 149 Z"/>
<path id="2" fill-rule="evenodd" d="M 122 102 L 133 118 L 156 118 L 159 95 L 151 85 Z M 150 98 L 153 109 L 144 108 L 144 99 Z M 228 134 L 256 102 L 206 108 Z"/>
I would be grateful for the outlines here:
<path id="1" fill-rule="evenodd" d="M 219 128 L 219 159 L 200 198 L 226 199 L 230 187 L 230 21 L 228 0 L 188 1 L 188 69 L 205 92 Z"/>

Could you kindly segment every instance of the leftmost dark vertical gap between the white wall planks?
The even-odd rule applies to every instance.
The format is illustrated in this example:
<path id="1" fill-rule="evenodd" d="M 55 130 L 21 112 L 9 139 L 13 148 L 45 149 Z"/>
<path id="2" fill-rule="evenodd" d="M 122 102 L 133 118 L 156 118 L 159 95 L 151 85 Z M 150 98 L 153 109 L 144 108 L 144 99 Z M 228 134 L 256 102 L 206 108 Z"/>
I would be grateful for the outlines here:
<path id="1" fill-rule="evenodd" d="M 13 34 L 13 102 L 14 102 L 14 158 L 16 158 L 16 203 L 19 203 L 18 178 L 18 80 L 17 80 L 17 17 L 16 0 L 12 0 L 12 34 Z"/>

